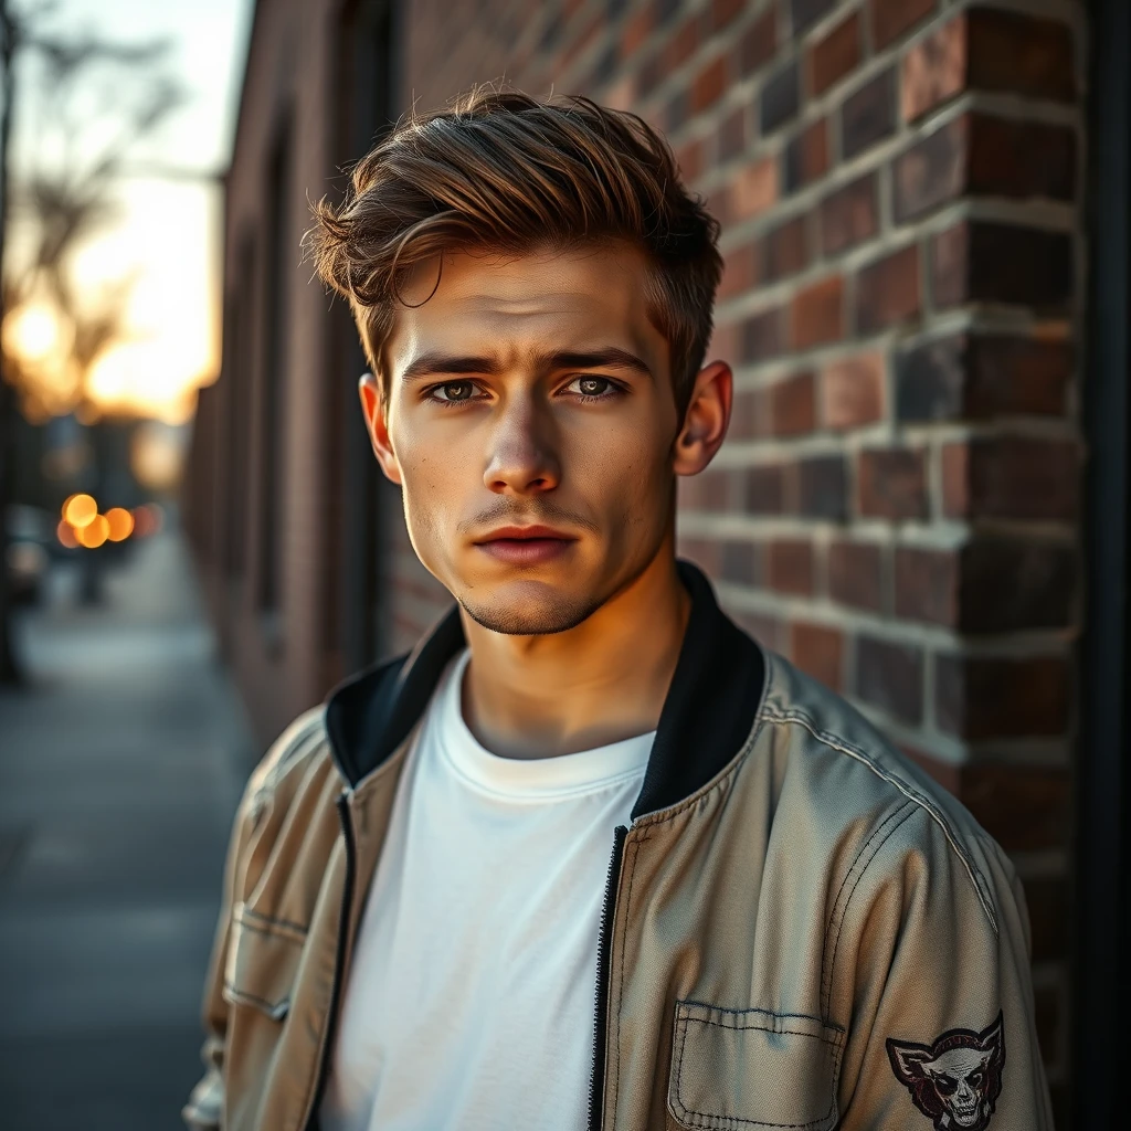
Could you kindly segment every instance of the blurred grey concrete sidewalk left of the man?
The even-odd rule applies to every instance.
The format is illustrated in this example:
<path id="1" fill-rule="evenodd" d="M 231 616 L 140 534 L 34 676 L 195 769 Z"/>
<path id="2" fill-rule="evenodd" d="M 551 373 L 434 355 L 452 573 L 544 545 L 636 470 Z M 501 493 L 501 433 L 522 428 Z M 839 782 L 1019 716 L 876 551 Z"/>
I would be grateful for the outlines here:
<path id="1" fill-rule="evenodd" d="M 52 577 L 0 693 L 0 1125 L 173 1131 L 254 750 L 180 537 L 79 607 Z"/>

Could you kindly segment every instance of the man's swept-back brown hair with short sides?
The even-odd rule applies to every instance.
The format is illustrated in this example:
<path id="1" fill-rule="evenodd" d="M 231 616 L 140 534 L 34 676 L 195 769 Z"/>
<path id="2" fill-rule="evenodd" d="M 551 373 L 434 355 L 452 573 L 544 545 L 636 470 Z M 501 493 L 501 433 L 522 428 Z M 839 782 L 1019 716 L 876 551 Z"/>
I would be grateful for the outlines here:
<path id="1" fill-rule="evenodd" d="M 415 265 L 450 250 L 633 244 L 651 268 L 648 317 L 667 340 L 682 417 L 711 335 L 718 222 L 636 114 L 481 87 L 402 120 L 353 170 L 342 204 L 323 198 L 314 217 L 318 274 L 349 300 L 386 396 L 382 349 Z"/>

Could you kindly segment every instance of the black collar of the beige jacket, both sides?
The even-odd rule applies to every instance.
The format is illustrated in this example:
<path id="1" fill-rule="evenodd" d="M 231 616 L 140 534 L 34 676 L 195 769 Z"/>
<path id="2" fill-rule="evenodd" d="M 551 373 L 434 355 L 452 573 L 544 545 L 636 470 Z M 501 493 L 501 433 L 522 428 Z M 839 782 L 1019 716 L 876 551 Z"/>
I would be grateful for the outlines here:
<path id="1" fill-rule="evenodd" d="M 703 573 L 690 562 L 676 566 L 691 594 L 691 615 L 633 818 L 679 803 L 734 758 L 753 725 L 766 676 L 761 649 L 718 607 Z M 400 745 L 465 644 L 452 605 L 411 654 L 362 672 L 330 694 L 326 727 L 351 785 Z"/>

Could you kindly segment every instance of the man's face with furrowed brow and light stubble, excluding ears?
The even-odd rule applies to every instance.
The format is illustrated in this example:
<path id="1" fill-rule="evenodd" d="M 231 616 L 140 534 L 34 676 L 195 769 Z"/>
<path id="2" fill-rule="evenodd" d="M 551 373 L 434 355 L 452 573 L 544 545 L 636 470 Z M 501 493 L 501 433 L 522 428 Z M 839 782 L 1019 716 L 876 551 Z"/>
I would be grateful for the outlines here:
<path id="1" fill-rule="evenodd" d="M 680 429 L 646 261 L 449 253 L 431 293 L 438 267 L 397 308 L 383 425 L 366 404 L 379 458 L 421 561 L 475 621 L 570 629 L 656 558 L 674 513 Z M 535 525 L 555 537 L 498 537 Z"/>

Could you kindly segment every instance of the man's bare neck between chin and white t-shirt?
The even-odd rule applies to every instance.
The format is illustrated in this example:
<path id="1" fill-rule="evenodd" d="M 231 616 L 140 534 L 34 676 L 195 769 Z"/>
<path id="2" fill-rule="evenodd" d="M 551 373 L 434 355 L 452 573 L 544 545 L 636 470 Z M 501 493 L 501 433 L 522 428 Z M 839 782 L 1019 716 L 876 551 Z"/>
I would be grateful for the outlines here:
<path id="1" fill-rule="evenodd" d="M 659 720 L 690 612 L 667 547 L 566 632 L 506 636 L 460 611 L 472 649 L 464 718 L 504 758 L 551 758 L 647 734 Z"/>

